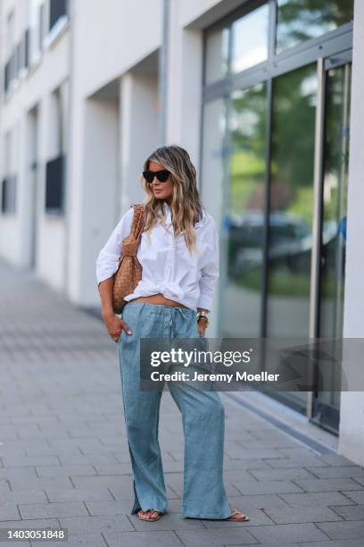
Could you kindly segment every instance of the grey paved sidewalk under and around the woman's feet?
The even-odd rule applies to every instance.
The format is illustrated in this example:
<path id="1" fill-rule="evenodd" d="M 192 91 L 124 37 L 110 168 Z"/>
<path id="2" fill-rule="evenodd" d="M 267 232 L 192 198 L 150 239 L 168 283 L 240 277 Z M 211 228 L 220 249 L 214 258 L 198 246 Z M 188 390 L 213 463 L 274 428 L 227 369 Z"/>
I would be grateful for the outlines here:
<path id="1" fill-rule="evenodd" d="M 0 287 L 0 527 L 63 527 L 67 545 L 95 547 L 364 545 L 363 468 L 318 454 L 223 394 L 225 485 L 250 521 L 180 516 L 183 433 L 168 391 L 160 440 L 170 512 L 155 523 L 130 515 L 116 345 L 98 318 L 31 274 L 3 263 Z"/>

